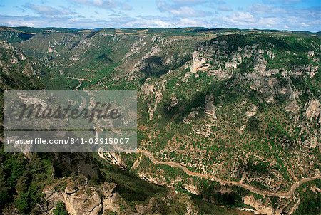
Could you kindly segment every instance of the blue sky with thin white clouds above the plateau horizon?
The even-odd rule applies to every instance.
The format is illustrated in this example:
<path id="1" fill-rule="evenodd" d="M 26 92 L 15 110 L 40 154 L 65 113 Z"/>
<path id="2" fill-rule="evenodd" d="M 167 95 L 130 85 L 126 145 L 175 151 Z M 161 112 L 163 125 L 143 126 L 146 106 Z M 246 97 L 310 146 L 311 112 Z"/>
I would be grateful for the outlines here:
<path id="1" fill-rule="evenodd" d="M 0 0 L 0 26 L 321 31 L 321 0 Z"/>

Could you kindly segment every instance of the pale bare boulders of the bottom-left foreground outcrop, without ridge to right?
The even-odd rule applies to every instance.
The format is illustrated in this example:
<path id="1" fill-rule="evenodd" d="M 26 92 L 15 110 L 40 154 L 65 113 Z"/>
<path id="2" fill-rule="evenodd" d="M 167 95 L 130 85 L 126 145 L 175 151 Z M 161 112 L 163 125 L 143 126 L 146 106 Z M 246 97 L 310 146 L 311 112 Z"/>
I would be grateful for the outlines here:
<path id="1" fill-rule="evenodd" d="M 117 193 L 114 193 L 116 184 L 107 183 L 91 186 L 85 182 L 79 182 L 79 179 L 72 181 L 67 179 L 66 188 L 56 190 L 54 187 L 44 189 L 47 204 L 41 206 L 44 214 L 51 214 L 58 201 L 63 201 L 66 210 L 71 215 L 98 215 L 114 212 L 120 214 L 120 205 L 126 202 L 121 199 Z M 127 207 L 128 210 L 129 207 Z M 126 211 L 131 214 L 132 211 Z"/>

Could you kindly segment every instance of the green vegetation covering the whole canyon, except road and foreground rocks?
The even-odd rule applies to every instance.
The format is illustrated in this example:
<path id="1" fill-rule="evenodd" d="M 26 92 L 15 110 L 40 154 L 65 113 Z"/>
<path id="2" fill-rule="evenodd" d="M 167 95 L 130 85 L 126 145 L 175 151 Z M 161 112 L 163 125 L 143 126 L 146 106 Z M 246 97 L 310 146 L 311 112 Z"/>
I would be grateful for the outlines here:
<path id="1" fill-rule="evenodd" d="M 287 191 L 295 177 L 320 170 L 320 115 L 307 114 L 310 103 L 321 99 L 320 37 L 314 34 L 4 28 L 0 38 L 6 41 L 0 47 L 1 98 L 3 89 L 136 89 L 138 147 L 156 159 L 277 192 Z M 215 117 L 205 110 L 211 106 L 208 95 L 213 95 Z M 140 204 L 147 214 L 184 214 L 192 201 L 200 214 L 228 214 L 219 206 L 250 207 L 242 199 L 248 195 L 273 209 L 288 203 L 188 177 L 138 154 L 121 157 L 126 170 L 93 154 L 24 156 L 1 150 L 0 208 L 36 214 L 46 200 L 39 190 L 67 178 L 85 178 L 91 186 L 116 183 L 114 192 L 130 209 Z M 138 176 L 170 184 L 178 194 Z M 200 195 L 188 196 L 186 184 Z M 320 193 L 311 190 L 320 186 L 317 180 L 298 189 L 297 214 L 320 212 Z M 121 205 L 123 213 L 126 207 Z M 53 213 L 66 214 L 66 207 L 58 202 Z"/>

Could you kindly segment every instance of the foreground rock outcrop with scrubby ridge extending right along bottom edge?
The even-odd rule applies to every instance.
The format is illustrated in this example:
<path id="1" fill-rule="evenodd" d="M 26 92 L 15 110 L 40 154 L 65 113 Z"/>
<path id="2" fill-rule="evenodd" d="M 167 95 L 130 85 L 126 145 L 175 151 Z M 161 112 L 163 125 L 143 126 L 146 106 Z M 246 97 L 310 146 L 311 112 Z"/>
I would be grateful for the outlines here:
<path id="1" fill-rule="evenodd" d="M 71 215 L 176 213 L 178 209 L 183 214 L 198 214 L 190 197 L 174 189 L 132 207 L 116 192 L 116 187 L 117 184 L 108 182 L 89 185 L 86 177 L 65 178 L 43 190 L 44 204 L 39 208 L 42 214 L 52 214 L 57 203 L 63 202 Z"/>

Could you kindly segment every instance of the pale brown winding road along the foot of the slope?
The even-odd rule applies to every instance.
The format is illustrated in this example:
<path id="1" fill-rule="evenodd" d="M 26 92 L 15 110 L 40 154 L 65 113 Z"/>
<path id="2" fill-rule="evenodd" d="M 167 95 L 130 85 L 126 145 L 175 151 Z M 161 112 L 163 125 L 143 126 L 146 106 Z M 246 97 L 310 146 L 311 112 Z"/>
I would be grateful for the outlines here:
<path id="1" fill-rule="evenodd" d="M 177 167 L 179 169 L 182 169 L 185 172 L 185 174 L 188 174 L 190 176 L 201 177 L 204 179 L 210 179 L 212 181 L 218 182 L 223 185 L 235 185 L 238 187 L 243 187 L 244 189 L 248 189 L 250 192 L 254 192 L 256 194 L 260 194 L 263 196 L 278 196 L 280 198 L 290 198 L 294 194 L 295 189 L 297 189 L 297 187 L 299 187 L 301 184 L 303 184 L 305 182 L 313 181 L 315 179 L 321 179 L 321 174 L 317 174 L 315 177 L 302 178 L 302 179 L 300 179 L 300 181 L 295 182 L 295 184 L 292 184 L 292 186 L 288 192 L 271 192 L 271 191 L 267 191 L 267 190 L 263 190 L 263 189 L 258 189 L 257 187 L 253 187 L 248 184 L 243 184 L 242 182 L 225 181 L 223 179 L 218 179 L 217 177 L 214 177 L 213 175 L 210 175 L 210 174 L 202 174 L 199 172 L 192 172 L 192 171 L 188 170 L 186 167 L 184 167 L 181 164 L 178 164 L 176 162 L 165 162 L 165 161 L 157 160 L 153 157 L 153 154 L 151 154 L 151 152 L 147 152 L 146 150 L 137 150 L 137 152 L 141 153 L 141 154 L 145 155 L 146 157 L 148 157 L 149 159 L 151 159 L 151 162 L 153 162 L 153 164 L 162 164 L 162 165 L 168 165 L 170 167 Z"/>

